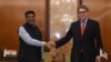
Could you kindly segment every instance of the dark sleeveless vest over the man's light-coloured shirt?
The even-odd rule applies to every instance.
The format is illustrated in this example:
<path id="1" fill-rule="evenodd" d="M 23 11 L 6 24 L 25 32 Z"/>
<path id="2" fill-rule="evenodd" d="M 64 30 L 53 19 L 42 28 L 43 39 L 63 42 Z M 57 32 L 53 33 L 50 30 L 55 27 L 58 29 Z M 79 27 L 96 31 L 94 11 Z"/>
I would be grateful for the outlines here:
<path id="1" fill-rule="evenodd" d="M 29 35 L 37 40 L 42 40 L 41 32 L 38 27 L 32 24 L 23 24 Z M 19 62 L 39 62 L 42 60 L 41 46 L 27 44 L 20 38 Z"/>

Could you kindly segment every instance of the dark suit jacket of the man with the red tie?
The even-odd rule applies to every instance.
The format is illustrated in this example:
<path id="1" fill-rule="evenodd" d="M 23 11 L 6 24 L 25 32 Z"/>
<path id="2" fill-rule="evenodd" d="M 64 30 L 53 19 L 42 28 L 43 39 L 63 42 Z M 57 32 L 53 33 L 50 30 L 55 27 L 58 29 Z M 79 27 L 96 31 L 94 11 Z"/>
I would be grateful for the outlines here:
<path id="1" fill-rule="evenodd" d="M 99 55 L 100 48 L 103 49 L 99 23 L 94 20 L 88 19 L 83 35 L 81 34 L 80 24 L 80 20 L 73 22 L 65 37 L 56 42 L 56 48 L 65 44 L 71 38 L 73 38 L 71 62 L 79 62 L 81 49 L 83 49 L 85 62 L 94 62 L 95 55 Z"/>

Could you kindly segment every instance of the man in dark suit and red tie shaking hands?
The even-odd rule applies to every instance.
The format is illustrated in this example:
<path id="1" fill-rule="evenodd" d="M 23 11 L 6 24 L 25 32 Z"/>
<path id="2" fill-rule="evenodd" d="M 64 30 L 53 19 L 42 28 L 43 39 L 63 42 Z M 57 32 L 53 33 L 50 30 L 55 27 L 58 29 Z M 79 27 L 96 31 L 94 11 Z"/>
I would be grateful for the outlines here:
<path id="1" fill-rule="evenodd" d="M 98 21 L 88 18 L 89 9 L 80 6 L 78 9 L 79 20 L 71 23 L 67 34 L 56 43 L 49 43 L 49 49 L 54 44 L 60 48 L 73 38 L 71 62 L 100 61 L 100 49 L 103 50 L 100 27 Z M 51 45 L 52 44 L 52 45 Z"/>

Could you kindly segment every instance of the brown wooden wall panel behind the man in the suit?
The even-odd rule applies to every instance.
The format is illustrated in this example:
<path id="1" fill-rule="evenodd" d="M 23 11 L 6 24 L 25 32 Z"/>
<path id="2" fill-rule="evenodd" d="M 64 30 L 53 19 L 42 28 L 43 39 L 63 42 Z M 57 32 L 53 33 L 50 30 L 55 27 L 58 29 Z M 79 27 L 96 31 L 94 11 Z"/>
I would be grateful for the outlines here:
<path id="1" fill-rule="evenodd" d="M 99 20 L 104 50 L 111 55 L 111 0 L 83 0 L 90 9 L 90 18 Z"/>

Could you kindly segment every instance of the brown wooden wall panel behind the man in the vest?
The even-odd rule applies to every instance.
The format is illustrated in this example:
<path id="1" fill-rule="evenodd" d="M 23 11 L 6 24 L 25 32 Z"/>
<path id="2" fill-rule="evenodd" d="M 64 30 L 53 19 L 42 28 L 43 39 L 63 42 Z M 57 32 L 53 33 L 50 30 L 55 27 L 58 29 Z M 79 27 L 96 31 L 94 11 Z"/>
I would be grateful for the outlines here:
<path id="1" fill-rule="evenodd" d="M 18 28 L 24 23 L 24 12 L 34 10 L 37 25 L 47 40 L 46 0 L 0 0 L 0 46 L 18 49 Z"/>

